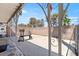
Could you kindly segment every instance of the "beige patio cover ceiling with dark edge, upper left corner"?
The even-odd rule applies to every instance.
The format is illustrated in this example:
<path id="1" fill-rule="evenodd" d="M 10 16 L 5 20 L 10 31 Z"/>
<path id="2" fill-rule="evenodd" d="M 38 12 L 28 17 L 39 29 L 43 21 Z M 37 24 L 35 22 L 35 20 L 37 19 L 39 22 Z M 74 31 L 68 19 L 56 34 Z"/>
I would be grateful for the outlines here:
<path id="1" fill-rule="evenodd" d="M 0 3 L 0 22 L 8 22 L 20 7 L 20 3 Z"/>

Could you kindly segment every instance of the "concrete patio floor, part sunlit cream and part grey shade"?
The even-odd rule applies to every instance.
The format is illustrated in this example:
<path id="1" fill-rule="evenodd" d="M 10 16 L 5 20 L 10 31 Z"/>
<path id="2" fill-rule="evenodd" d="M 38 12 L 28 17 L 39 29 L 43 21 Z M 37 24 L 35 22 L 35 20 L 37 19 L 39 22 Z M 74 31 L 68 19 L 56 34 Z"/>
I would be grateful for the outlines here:
<path id="1" fill-rule="evenodd" d="M 48 56 L 48 37 L 32 35 L 33 39 L 25 37 L 24 42 L 18 42 L 15 37 L 11 37 L 16 46 L 25 56 Z M 74 41 L 62 39 L 62 56 L 75 56 Z M 58 41 L 52 38 L 51 56 L 58 56 Z"/>

